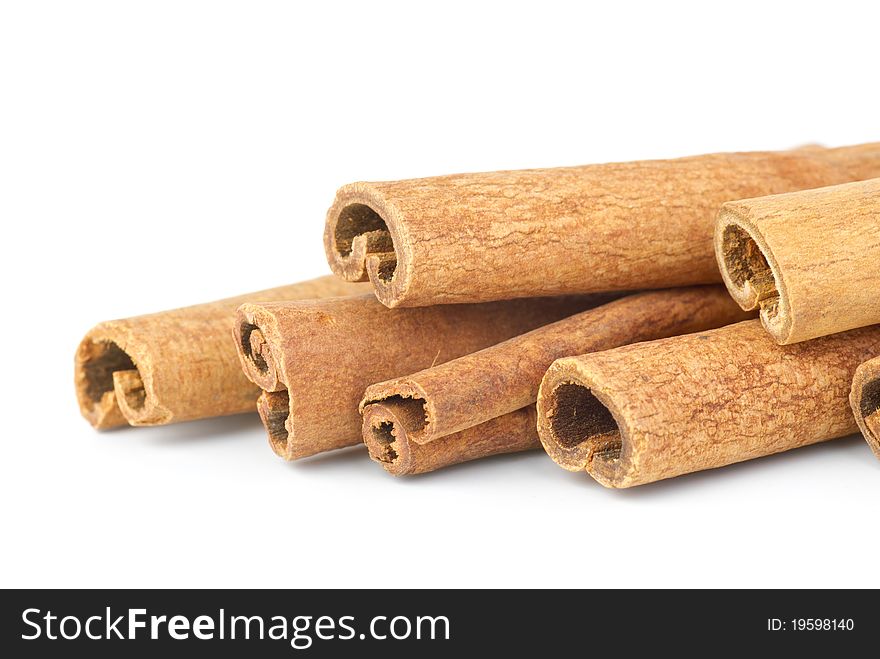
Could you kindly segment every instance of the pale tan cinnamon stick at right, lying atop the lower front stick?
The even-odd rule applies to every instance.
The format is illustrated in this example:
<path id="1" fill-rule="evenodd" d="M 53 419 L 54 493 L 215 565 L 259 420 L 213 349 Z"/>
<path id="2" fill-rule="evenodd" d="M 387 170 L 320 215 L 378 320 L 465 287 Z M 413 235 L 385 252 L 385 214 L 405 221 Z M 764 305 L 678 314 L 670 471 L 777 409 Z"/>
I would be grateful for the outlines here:
<path id="1" fill-rule="evenodd" d="M 880 323 L 880 179 L 726 203 L 715 254 L 777 343 Z"/>

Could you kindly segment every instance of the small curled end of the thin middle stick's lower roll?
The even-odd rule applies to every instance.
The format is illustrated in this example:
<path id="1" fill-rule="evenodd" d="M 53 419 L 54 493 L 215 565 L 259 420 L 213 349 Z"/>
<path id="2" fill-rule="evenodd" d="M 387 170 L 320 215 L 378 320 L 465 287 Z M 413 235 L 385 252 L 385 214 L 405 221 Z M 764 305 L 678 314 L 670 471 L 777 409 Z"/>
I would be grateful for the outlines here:
<path id="1" fill-rule="evenodd" d="M 389 474 L 416 473 L 408 427 L 418 425 L 420 411 L 401 400 L 386 400 L 363 409 L 364 444 L 370 457 Z"/>

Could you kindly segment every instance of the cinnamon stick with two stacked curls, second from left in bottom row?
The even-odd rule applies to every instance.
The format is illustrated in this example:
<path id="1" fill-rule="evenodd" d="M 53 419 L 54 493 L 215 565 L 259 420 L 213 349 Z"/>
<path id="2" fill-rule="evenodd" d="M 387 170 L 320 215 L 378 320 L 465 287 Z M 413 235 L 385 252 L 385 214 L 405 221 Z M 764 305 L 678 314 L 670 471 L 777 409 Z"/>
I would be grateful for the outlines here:
<path id="1" fill-rule="evenodd" d="M 359 444 L 358 402 L 369 384 L 480 350 L 603 299 L 397 310 L 372 295 L 245 304 L 235 338 L 245 374 L 269 392 L 259 409 L 270 444 L 292 460 Z"/>

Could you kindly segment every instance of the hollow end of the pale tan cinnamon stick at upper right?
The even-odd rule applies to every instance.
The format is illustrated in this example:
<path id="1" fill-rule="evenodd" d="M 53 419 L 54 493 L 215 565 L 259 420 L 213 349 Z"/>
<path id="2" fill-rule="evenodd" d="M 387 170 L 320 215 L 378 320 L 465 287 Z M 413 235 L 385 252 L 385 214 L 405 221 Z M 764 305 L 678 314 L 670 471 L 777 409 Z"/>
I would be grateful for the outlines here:
<path id="1" fill-rule="evenodd" d="M 761 324 L 774 340 L 790 342 L 791 304 L 785 282 L 764 238 L 731 204 L 715 225 L 715 256 L 727 290 L 744 311 L 760 310 Z"/>

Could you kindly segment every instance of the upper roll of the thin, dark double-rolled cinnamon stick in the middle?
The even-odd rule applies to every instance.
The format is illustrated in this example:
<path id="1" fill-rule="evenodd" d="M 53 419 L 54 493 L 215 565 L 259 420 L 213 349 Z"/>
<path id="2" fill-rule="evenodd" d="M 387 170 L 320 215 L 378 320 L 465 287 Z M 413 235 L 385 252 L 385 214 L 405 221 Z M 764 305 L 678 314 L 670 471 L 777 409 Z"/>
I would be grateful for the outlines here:
<path id="1" fill-rule="evenodd" d="M 427 444 L 531 405 L 544 373 L 560 357 L 698 332 L 748 317 L 722 286 L 630 295 L 445 364 L 374 384 L 367 388 L 361 410 L 393 405 L 396 411 L 372 416 L 405 421 L 403 431 L 393 436 L 405 432 L 409 441 Z"/>

